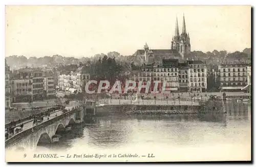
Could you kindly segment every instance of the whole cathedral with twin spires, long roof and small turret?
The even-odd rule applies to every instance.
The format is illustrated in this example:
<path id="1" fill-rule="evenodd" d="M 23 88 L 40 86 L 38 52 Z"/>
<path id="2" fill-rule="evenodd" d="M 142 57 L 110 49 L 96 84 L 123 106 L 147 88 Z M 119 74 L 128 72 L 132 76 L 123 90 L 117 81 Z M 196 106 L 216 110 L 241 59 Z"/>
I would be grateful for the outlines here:
<path id="1" fill-rule="evenodd" d="M 143 50 L 137 50 L 134 54 L 135 64 L 160 63 L 163 59 L 184 59 L 190 53 L 190 38 L 186 32 L 185 17 L 183 15 L 182 33 L 179 33 L 178 18 L 176 17 L 175 33 L 167 50 L 152 50 L 147 43 Z"/>

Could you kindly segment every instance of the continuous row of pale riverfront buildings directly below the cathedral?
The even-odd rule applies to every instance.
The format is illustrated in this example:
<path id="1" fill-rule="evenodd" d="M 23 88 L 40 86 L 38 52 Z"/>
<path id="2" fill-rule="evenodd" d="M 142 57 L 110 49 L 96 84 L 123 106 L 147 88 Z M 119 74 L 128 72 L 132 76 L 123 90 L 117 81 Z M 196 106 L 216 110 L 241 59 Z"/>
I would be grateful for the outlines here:
<path id="1" fill-rule="evenodd" d="M 179 61 L 163 59 L 161 64 L 144 64 L 141 69 L 132 70 L 131 80 L 137 82 L 151 81 L 150 90 L 154 89 L 154 81 L 166 81 L 166 91 L 170 92 L 205 92 L 207 90 L 207 68 L 200 60 Z M 159 84 L 158 90 L 161 90 Z M 143 92 L 143 89 L 142 89 Z"/>

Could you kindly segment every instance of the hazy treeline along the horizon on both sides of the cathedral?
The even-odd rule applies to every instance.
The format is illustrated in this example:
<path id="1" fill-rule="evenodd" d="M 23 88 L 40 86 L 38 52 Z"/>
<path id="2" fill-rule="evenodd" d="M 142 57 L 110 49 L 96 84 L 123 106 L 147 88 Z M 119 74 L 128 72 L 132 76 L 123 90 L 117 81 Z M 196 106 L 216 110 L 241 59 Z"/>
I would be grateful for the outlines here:
<path id="1" fill-rule="evenodd" d="M 108 54 L 96 54 L 92 57 L 82 57 L 82 58 L 74 58 L 74 57 L 63 57 L 60 55 L 45 56 L 45 57 L 30 57 L 27 58 L 25 56 L 9 56 L 6 57 L 7 64 L 11 68 L 21 68 L 26 66 L 34 66 L 40 67 L 42 65 L 50 65 L 55 67 L 59 64 L 79 64 L 79 62 L 87 63 L 87 62 L 97 62 L 100 59 L 103 59 L 105 56 L 108 58 L 115 58 L 115 61 L 122 64 L 122 66 L 127 66 L 133 61 L 133 56 L 123 56 L 118 52 L 109 52 Z M 227 53 L 227 51 L 217 51 L 214 50 L 212 52 L 202 52 L 202 51 L 193 51 L 188 55 L 188 58 L 196 58 L 196 59 L 225 59 L 225 60 L 233 60 L 233 59 L 251 59 L 251 49 L 246 48 L 243 52 L 233 52 Z"/>

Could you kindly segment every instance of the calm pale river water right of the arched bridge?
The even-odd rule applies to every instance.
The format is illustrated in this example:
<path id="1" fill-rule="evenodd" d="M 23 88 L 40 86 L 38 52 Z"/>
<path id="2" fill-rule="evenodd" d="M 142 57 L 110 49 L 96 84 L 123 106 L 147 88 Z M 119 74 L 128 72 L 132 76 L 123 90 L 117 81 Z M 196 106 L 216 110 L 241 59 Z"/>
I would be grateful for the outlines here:
<path id="1" fill-rule="evenodd" d="M 251 104 L 227 102 L 226 111 L 94 117 L 64 134 L 50 149 L 84 154 L 137 153 L 147 156 L 140 158 L 142 161 L 250 160 Z M 155 158 L 148 158 L 149 153 Z"/>

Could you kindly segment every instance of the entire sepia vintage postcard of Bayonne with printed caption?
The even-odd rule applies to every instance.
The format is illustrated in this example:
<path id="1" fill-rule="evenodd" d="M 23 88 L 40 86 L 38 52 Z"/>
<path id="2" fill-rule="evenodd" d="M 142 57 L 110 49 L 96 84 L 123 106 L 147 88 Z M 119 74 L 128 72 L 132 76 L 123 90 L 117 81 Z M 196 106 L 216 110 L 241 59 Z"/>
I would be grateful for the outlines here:
<path id="1" fill-rule="evenodd" d="M 6 162 L 251 160 L 251 6 L 6 6 Z"/>

